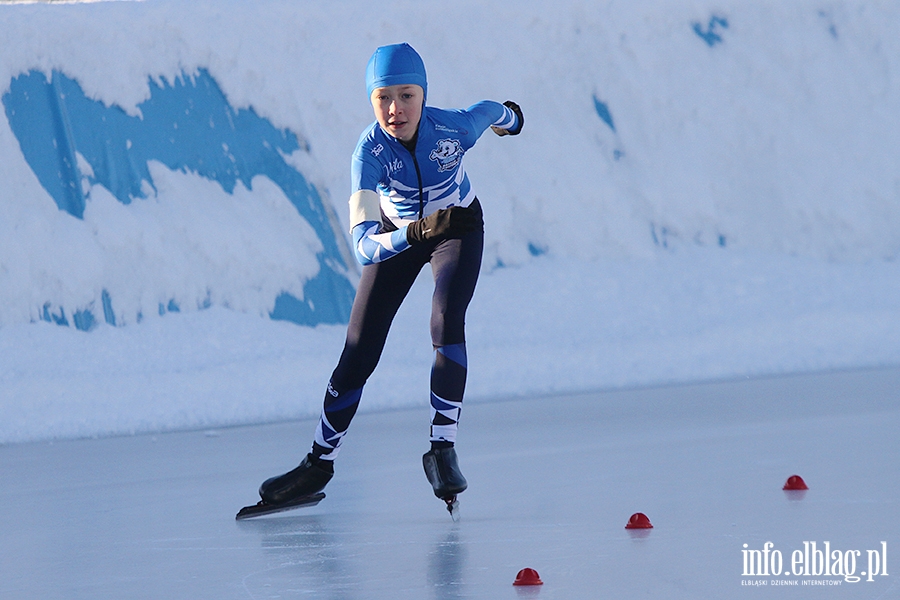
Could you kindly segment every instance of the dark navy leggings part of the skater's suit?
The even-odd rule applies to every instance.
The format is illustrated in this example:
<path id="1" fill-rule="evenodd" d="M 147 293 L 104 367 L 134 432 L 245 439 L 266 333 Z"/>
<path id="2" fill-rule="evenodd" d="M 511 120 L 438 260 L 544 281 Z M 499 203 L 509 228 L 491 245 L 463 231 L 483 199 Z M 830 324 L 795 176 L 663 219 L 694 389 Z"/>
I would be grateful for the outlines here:
<path id="1" fill-rule="evenodd" d="M 477 202 L 473 206 L 480 210 Z M 473 231 L 460 239 L 418 244 L 384 262 L 363 267 L 350 312 L 347 339 L 325 394 L 322 419 L 313 444 L 314 455 L 333 459 L 337 454 L 341 438 L 356 414 L 362 388 L 381 358 L 394 315 L 426 263 L 431 263 L 434 274 L 432 344 L 435 350 L 456 346 L 462 349 L 463 355 L 460 365 L 459 361 L 447 361 L 443 354 L 438 356 L 436 352 L 432 398 L 437 392 L 441 398 L 462 402 L 466 309 L 475 292 L 483 248 L 484 232 Z M 448 354 L 457 356 L 459 352 Z M 448 368 L 443 368 L 445 363 Z"/>

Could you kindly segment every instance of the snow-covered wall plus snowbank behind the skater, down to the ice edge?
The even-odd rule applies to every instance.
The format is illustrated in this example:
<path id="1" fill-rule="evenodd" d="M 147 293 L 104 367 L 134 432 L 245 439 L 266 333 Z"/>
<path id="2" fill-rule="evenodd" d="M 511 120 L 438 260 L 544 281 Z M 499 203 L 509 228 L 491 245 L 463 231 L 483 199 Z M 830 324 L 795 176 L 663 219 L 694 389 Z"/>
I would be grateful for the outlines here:
<path id="1" fill-rule="evenodd" d="M 0 443 L 315 416 L 404 40 L 431 104 L 526 116 L 467 158 L 467 402 L 900 364 L 896 3 L 3 3 L 0 40 Z M 361 410 L 427 417 L 427 284 Z"/>

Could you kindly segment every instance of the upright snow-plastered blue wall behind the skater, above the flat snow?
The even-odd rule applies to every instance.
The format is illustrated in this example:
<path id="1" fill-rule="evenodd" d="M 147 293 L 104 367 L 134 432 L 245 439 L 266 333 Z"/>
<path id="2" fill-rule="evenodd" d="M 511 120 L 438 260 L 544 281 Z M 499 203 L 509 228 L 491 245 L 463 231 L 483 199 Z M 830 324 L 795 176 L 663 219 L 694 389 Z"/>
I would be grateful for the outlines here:
<path id="1" fill-rule="evenodd" d="M 0 325 L 344 322 L 362 73 L 398 40 L 432 103 L 525 107 L 520 139 L 469 161 L 489 265 L 679 243 L 895 258 L 898 24 L 882 2 L 3 6 Z"/>

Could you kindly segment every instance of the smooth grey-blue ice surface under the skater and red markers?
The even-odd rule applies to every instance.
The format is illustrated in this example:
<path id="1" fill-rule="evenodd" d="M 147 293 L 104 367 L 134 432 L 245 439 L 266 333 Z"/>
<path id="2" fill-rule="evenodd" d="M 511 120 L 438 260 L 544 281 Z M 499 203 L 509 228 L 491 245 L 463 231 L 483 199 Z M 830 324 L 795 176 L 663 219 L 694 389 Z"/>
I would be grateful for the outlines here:
<path id="1" fill-rule="evenodd" d="M 470 403 L 459 523 L 422 473 L 427 406 L 359 415 L 319 506 L 241 522 L 314 422 L 6 445 L 0 597 L 900 598 L 898 389 L 895 368 Z M 766 542 L 787 573 L 748 576 Z M 843 574 L 805 574 L 804 542 Z M 544 585 L 514 587 L 525 567 Z"/>

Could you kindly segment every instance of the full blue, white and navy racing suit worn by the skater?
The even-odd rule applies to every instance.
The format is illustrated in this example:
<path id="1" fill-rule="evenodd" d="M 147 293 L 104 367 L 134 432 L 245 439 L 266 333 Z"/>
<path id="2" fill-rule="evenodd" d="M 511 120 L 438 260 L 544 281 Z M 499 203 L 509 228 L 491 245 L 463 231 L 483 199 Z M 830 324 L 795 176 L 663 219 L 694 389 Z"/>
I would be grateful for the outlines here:
<path id="1" fill-rule="evenodd" d="M 467 110 L 424 107 L 412 143 L 401 143 L 377 123 L 360 136 L 351 163 L 350 225 L 363 271 L 344 349 L 325 394 L 313 456 L 337 456 L 394 315 L 426 263 L 435 282 L 431 441 L 455 442 L 467 373 L 465 313 L 481 268 L 484 232 L 410 245 L 406 229 L 451 206 L 481 210 L 462 159 L 492 125 L 512 130 L 518 117 L 491 101 Z"/>

